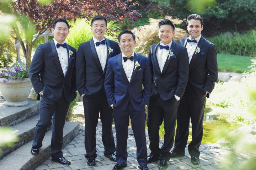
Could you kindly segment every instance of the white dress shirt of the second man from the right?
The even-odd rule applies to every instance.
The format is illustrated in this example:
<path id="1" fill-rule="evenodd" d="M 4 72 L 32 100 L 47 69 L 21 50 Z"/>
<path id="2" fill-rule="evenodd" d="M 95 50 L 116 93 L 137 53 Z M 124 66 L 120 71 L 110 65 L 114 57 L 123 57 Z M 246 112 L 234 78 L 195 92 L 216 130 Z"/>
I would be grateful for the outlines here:
<path id="1" fill-rule="evenodd" d="M 164 68 L 165 61 L 167 60 L 167 57 L 169 55 L 169 51 L 171 50 L 171 44 L 172 44 L 172 40 L 169 44 L 166 44 L 167 46 L 169 46 L 169 50 L 166 50 L 165 48 L 160 50 L 160 45 L 166 46 L 166 45 L 162 44 L 161 42 L 157 48 L 156 58 L 158 59 L 158 64 L 159 64 L 159 68 L 160 68 L 161 72 L 162 72 L 162 69 Z"/>

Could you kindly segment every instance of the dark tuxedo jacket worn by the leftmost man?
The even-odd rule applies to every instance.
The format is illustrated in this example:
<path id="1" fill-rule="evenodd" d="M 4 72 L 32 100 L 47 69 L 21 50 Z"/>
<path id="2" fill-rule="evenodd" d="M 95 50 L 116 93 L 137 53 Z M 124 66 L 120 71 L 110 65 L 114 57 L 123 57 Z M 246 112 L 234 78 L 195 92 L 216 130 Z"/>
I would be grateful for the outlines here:
<path id="1" fill-rule="evenodd" d="M 53 102 L 57 102 L 63 92 L 68 102 L 72 102 L 76 97 L 74 68 L 76 50 L 68 44 L 66 50 L 68 70 L 65 76 L 53 40 L 39 45 L 31 61 L 29 76 L 34 91 L 37 94 L 43 91 L 43 96 Z M 69 50 L 73 52 L 72 55 L 69 55 Z"/>

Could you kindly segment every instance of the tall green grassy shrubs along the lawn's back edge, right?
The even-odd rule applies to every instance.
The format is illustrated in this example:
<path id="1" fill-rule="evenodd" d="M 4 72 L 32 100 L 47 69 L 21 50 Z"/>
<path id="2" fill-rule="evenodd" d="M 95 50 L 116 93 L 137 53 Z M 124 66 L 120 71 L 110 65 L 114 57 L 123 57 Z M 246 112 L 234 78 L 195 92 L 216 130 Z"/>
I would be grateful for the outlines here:
<path id="1" fill-rule="evenodd" d="M 224 33 L 209 38 L 216 45 L 217 53 L 243 56 L 256 55 L 256 31 L 251 30 L 244 34 Z"/>

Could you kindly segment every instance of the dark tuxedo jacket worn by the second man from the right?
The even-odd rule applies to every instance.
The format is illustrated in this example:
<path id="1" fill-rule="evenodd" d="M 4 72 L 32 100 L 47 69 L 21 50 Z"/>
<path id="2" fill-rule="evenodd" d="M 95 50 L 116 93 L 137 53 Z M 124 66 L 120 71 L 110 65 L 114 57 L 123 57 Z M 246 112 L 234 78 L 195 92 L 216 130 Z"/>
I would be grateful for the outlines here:
<path id="1" fill-rule="evenodd" d="M 182 98 L 188 80 L 187 49 L 172 40 L 171 51 L 174 55 L 167 57 L 161 72 L 156 57 L 159 45 L 160 42 L 151 45 L 149 49 L 148 60 L 153 80 L 151 99 L 157 99 L 159 95 L 162 100 L 169 100 L 174 95 Z"/>

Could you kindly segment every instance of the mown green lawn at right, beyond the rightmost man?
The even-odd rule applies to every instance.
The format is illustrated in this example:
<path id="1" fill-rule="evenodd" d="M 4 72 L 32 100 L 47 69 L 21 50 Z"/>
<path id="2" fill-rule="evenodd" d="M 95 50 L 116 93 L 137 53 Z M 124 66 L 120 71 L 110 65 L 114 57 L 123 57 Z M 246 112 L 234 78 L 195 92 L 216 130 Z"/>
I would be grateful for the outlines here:
<path id="1" fill-rule="evenodd" d="M 255 57 L 246 57 L 239 55 L 230 55 L 230 54 L 218 54 L 218 70 L 219 71 L 231 71 L 231 72 L 248 72 L 251 68 L 248 66 L 251 65 L 251 59 Z"/>

